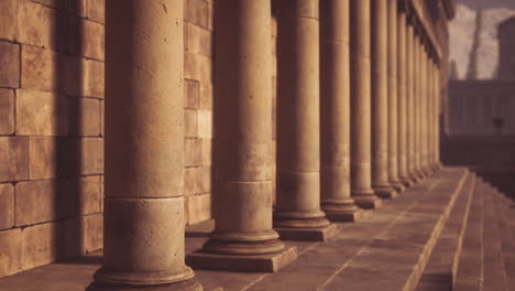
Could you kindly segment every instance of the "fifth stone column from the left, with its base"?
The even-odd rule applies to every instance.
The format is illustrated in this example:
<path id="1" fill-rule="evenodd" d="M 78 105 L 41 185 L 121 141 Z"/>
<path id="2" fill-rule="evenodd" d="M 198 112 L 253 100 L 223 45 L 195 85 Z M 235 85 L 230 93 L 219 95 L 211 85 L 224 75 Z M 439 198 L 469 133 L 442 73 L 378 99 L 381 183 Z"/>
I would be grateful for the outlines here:
<path id="1" fill-rule="evenodd" d="M 363 208 L 381 200 L 372 190 L 370 0 L 350 1 L 351 193 Z"/>

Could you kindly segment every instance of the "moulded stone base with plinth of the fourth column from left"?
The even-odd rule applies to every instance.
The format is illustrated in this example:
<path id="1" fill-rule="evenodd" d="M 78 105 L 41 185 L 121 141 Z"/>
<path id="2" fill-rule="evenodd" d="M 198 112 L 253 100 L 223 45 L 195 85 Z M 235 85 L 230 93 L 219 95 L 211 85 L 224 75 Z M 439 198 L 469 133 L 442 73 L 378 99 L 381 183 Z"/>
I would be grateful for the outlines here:
<path id="1" fill-rule="evenodd" d="M 331 222 L 354 223 L 363 216 L 363 211 L 350 197 L 341 202 L 322 200 L 321 208 L 326 213 L 326 217 Z"/>

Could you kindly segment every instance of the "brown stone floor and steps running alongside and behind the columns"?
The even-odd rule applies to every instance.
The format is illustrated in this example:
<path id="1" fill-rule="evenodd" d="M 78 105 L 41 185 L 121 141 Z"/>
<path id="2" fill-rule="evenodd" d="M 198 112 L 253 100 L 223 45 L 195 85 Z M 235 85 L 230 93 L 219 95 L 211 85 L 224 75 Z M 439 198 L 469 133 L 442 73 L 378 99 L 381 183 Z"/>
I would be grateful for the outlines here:
<path id="1" fill-rule="evenodd" d="M 464 169 L 443 169 L 327 242 L 288 242 L 299 257 L 276 273 L 196 270 L 205 290 L 511 290 L 515 206 Z M 189 227 L 186 251 L 212 222 Z M 83 291 L 101 254 L 0 279 L 0 290 Z M 463 267 L 465 266 L 465 267 Z M 420 279 L 421 278 L 421 279 Z M 480 287 L 482 289 L 480 289 Z M 512 289 L 515 290 L 515 289 Z"/>

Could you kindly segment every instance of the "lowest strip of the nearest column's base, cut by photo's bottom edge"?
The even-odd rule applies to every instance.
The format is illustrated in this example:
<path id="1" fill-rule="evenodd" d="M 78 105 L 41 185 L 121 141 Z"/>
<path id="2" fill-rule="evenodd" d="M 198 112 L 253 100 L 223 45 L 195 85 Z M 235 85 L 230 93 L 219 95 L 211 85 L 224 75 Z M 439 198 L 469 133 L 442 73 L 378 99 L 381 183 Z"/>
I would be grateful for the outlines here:
<path id="1" fill-rule="evenodd" d="M 86 291 L 202 291 L 202 285 L 196 280 L 190 279 L 183 282 L 172 284 L 157 284 L 157 285 L 128 285 L 92 282 L 88 285 Z"/>

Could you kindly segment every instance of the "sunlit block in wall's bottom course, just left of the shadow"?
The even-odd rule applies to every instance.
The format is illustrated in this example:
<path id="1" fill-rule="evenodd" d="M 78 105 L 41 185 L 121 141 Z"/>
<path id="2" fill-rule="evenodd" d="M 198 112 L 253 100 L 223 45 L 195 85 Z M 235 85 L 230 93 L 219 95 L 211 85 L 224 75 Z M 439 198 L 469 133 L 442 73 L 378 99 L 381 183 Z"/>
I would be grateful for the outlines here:
<path id="1" fill-rule="evenodd" d="M 62 258 L 62 225 L 41 224 L 23 229 L 22 269 L 29 270 Z"/>

